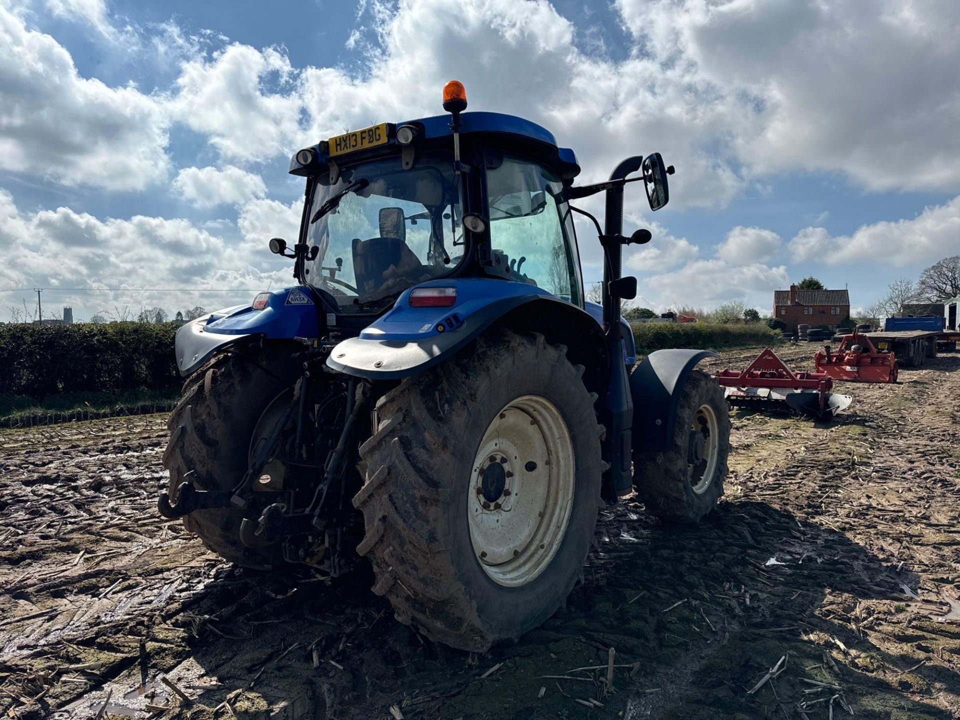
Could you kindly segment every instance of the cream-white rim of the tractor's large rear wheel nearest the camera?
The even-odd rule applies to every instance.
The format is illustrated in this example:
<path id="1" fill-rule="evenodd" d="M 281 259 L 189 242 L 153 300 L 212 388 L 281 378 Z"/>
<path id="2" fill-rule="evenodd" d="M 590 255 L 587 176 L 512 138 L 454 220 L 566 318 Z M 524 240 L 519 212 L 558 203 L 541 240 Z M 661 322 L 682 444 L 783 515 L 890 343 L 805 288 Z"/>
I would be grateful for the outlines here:
<path id="1" fill-rule="evenodd" d="M 545 397 L 511 400 L 490 423 L 470 468 L 473 552 L 499 585 L 533 581 L 564 541 L 576 463 L 564 417 Z"/>

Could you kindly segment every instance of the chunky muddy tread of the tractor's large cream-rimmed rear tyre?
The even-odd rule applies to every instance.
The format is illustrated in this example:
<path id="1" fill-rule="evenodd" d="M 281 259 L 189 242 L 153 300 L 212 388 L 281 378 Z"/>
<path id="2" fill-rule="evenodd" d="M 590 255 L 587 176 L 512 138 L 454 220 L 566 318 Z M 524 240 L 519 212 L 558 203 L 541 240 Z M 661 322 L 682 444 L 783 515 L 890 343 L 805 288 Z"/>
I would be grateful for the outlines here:
<path id="1" fill-rule="evenodd" d="M 399 622 L 414 623 L 426 636 L 464 650 L 484 652 L 493 641 L 518 634 L 481 618 L 446 552 L 450 529 L 441 509 L 450 492 L 444 487 L 450 473 L 444 455 L 463 445 L 459 432 L 477 398 L 492 384 L 509 382 L 516 363 L 529 361 L 530 346 L 536 347 L 543 372 L 552 373 L 556 382 L 583 387 L 583 369 L 571 365 L 565 348 L 547 344 L 543 335 L 501 331 L 482 336 L 472 351 L 403 381 L 380 398 L 382 420 L 360 448 L 366 482 L 353 504 L 363 512 L 368 529 L 358 551 L 372 563 L 373 591 L 390 600 Z M 592 398 L 586 387 L 583 392 L 583 412 L 596 423 Z M 597 424 L 597 437 L 602 430 Z M 599 477 L 596 446 L 597 457 L 585 462 L 596 464 Z M 599 486 L 595 502 L 599 508 Z M 572 587 L 573 582 L 567 592 Z"/>

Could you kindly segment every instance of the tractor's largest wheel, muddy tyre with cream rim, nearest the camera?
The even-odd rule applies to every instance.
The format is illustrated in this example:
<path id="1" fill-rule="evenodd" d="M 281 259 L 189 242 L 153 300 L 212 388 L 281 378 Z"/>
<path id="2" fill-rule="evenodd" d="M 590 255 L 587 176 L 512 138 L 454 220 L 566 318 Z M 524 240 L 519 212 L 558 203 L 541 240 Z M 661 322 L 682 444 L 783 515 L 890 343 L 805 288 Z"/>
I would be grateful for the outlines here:
<path id="1" fill-rule="evenodd" d="M 583 372 L 541 335 L 501 331 L 379 400 L 357 551 L 400 622 L 482 652 L 563 605 L 600 505 Z"/>

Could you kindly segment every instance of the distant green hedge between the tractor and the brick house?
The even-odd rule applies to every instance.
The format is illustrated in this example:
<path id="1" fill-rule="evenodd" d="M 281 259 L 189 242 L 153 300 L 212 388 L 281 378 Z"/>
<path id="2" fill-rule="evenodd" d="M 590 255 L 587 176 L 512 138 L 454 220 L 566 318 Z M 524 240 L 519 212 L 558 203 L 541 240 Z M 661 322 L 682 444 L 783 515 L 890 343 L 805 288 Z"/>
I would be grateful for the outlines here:
<path id="1" fill-rule="evenodd" d="M 762 323 L 633 323 L 636 348 L 640 352 L 664 348 L 732 348 L 774 345 L 780 333 Z"/>

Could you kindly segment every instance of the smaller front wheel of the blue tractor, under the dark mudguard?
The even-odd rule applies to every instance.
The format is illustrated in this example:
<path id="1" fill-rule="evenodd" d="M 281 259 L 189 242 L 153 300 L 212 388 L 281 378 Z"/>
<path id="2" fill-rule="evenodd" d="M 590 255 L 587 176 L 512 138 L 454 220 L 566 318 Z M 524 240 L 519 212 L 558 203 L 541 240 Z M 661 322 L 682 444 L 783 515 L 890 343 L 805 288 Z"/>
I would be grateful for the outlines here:
<path id="1" fill-rule="evenodd" d="M 666 452 L 634 453 L 634 485 L 647 512 L 668 522 L 698 522 L 723 494 L 730 455 L 730 418 L 723 389 L 693 371 L 677 408 Z"/>

